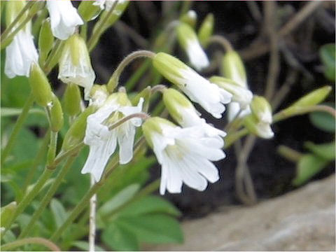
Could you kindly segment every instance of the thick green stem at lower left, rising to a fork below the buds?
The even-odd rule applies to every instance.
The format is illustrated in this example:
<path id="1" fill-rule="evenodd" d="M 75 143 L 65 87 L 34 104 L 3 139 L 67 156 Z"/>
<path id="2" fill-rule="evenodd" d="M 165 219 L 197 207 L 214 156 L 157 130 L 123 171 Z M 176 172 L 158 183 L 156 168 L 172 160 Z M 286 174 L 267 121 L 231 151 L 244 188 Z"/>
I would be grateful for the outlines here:
<path id="1" fill-rule="evenodd" d="M 52 172 L 54 172 L 54 171 L 51 170 L 51 169 L 44 169 L 43 174 L 40 176 L 40 178 L 36 182 L 34 188 L 32 188 L 31 191 L 29 191 L 29 193 L 27 193 L 27 195 L 25 195 L 25 197 L 22 199 L 22 201 L 18 204 L 18 208 L 16 209 L 15 213 L 13 214 L 13 218 L 10 221 L 8 221 L 8 225 L 6 227 L 4 227 L 4 228 L 6 228 L 6 230 L 8 230 L 8 228 L 10 228 L 10 225 L 12 225 L 12 223 L 15 221 L 15 219 L 20 214 L 22 214 L 23 211 L 25 211 L 26 207 L 29 205 L 31 200 L 33 200 L 34 197 L 36 197 L 36 195 L 41 190 L 41 188 L 43 187 L 45 182 L 50 178 L 50 176 L 52 175 Z"/>

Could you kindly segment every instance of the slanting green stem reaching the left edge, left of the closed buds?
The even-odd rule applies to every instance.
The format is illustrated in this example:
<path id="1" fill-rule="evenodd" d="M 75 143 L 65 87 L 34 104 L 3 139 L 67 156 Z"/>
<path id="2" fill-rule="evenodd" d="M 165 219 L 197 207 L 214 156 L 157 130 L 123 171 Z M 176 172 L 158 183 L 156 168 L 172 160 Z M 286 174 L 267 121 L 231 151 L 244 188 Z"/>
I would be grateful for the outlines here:
<path id="1" fill-rule="evenodd" d="M 3 149 L 3 152 L 1 154 L 1 167 L 3 163 L 6 161 L 6 158 L 10 151 L 12 150 L 15 140 L 18 137 L 18 134 L 23 126 L 23 123 L 25 123 L 25 120 L 27 116 L 29 115 L 29 109 L 34 104 L 34 96 L 33 94 L 29 94 L 28 99 L 25 102 L 25 105 L 22 108 L 22 112 L 20 116 L 18 117 L 18 120 L 16 120 L 16 123 L 13 128 L 13 132 L 10 134 L 10 137 L 8 139 L 8 143 L 6 144 L 6 147 Z"/>

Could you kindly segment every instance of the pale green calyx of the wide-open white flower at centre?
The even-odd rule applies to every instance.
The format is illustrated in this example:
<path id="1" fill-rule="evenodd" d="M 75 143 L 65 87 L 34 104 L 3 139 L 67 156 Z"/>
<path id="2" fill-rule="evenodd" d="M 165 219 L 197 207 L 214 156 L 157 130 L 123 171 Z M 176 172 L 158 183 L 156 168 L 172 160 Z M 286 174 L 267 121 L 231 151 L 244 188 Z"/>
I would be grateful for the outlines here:
<path id="1" fill-rule="evenodd" d="M 169 127 L 176 127 L 176 125 L 169 120 L 157 116 L 148 118 L 145 123 L 142 124 L 142 132 L 144 133 L 145 139 L 151 148 L 153 148 L 152 135 L 162 134 L 162 127 L 165 127 L 165 125 Z"/>

